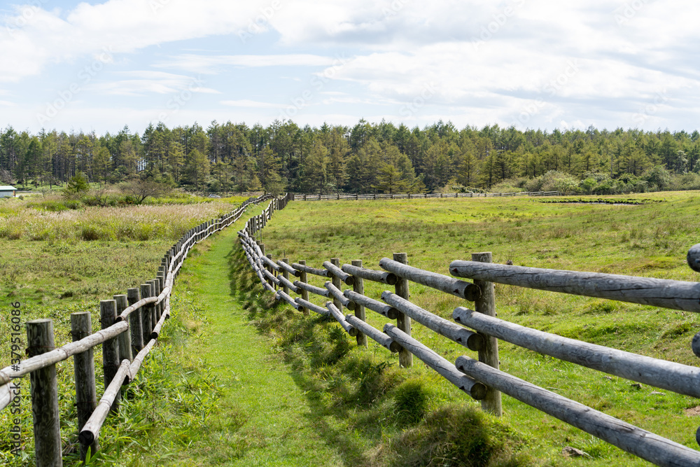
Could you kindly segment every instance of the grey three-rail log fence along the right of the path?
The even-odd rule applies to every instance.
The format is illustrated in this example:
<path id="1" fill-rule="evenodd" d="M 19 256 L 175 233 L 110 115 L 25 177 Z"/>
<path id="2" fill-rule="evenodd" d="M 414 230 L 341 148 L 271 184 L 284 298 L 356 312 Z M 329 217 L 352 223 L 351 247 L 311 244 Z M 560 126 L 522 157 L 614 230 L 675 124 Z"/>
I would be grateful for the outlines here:
<path id="1" fill-rule="evenodd" d="M 552 391 L 519 379 L 498 369 L 498 340 L 540 354 L 576 363 L 587 368 L 625 379 L 700 398 L 700 368 L 659 360 L 626 351 L 568 339 L 540 330 L 526 328 L 496 318 L 494 283 L 570 293 L 588 297 L 653 305 L 687 312 L 700 312 L 700 284 L 696 282 L 651 279 L 616 274 L 539 269 L 491 263 L 491 253 L 473 253 L 470 260 L 455 260 L 449 265 L 454 277 L 436 274 L 407 265 L 406 253 L 394 253 L 393 259 L 382 258 L 384 269 L 368 270 L 361 260 L 340 264 L 339 258 L 325 261 L 321 268 L 311 267 L 304 260 L 296 263 L 265 255 L 265 245 L 256 242 L 255 232 L 276 209 L 282 209 L 290 195 L 274 199 L 260 216 L 248 220 L 238 232 L 246 258 L 262 286 L 291 307 L 330 315 L 359 345 L 367 345 L 367 337 L 399 354 L 400 365 L 412 365 L 416 356 L 442 377 L 482 401 L 482 408 L 500 416 L 500 394 L 516 398 L 582 431 L 624 449 L 659 466 L 700 466 L 700 452 L 622 420 L 570 400 Z M 700 244 L 688 252 L 689 265 L 700 271 Z M 309 274 L 328 279 L 323 287 L 309 284 Z M 290 277 L 297 277 L 291 281 Z M 472 282 L 461 279 L 472 279 Z M 363 281 L 377 281 L 393 286 L 384 291 L 381 300 L 364 295 Z M 456 307 L 452 319 L 443 319 L 409 301 L 409 281 L 474 302 L 473 309 Z M 342 283 L 352 288 L 341 290 Z M 290 293 L 300 295 L 292 298 Z M 320 295 L 325 305 L 309 301 L 309 293 Z M 346 309 L 353 314 L 344 315 Z M 370 309 L 396 321 L 386 323 L 383 332 L 365 322 Z M 411 320 L 447 337 L 463 347 L 476 351 L 478 359 L 460 356 L 455 363 L 447 361 L 411 337 Z M 459 324 L 457 324 L 459 323 Z M 463 325 L 463 326 L 461 326 Z M 466 326 L 466 327 L 464 327 Z M 692 348 L 700 356 L 700 333 Z M 696 435 L 700 442 L 700 429 Z"/>

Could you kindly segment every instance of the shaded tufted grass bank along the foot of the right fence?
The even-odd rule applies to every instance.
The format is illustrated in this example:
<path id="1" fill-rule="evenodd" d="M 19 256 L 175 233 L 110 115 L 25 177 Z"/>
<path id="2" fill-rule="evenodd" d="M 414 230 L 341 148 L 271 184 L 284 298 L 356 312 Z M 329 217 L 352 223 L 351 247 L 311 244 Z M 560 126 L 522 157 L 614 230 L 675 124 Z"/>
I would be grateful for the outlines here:
<path id="1" fill-rule="evenodd" d="M 426 401 L 430 389 L 398 363 L 365 349 L 353 351 L 353 342 L 332 317 L 302 317 L 260 291 L 239 248 L 230 255 L 229 279 L 231 295 L 243 304 L 248 321 L 274 340 L 290 376 L 304 391 L 309 425 L 344 465 L 426 465 L 433 456 L 460 454 L 483 456 L 486 463 L 495 456 L 513 461 L 509 465 L 527 465 L 511 448 L 503 448 L 508 436 L 496 433 L 502 424 L 466 404 L 429 412 L 427 403 L 416 400 Z M 442 429 L 446 424 L 462 430 L 448 433 Z M 522 444 L 517 436 L 512 441 Z"/>

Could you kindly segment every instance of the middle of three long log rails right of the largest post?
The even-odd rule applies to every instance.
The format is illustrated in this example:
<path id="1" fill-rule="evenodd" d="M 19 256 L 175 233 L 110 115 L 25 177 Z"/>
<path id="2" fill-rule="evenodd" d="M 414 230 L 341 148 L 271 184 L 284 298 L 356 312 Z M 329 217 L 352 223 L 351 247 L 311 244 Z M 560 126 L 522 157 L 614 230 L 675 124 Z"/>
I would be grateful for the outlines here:
<path id="1" fill-rule="evenodd" d="M 545 333 L 457 307 L 454 320 L 472 329 L 586 368 L 700 398 L 700 368 Z"/>

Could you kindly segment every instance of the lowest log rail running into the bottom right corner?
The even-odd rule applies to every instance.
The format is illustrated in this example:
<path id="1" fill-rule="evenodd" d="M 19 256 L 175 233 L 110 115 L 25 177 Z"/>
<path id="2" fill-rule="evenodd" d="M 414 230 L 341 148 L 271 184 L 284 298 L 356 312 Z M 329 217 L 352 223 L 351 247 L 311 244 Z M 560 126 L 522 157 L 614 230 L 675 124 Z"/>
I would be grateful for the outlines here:
<path id="1" fill-rule="evenodd" d="M 700 466 L 700 452 L 694 449 L 661 438 L 472 358 L 458 357 L 456 367 L 487 386 L 657 466 Z"/>

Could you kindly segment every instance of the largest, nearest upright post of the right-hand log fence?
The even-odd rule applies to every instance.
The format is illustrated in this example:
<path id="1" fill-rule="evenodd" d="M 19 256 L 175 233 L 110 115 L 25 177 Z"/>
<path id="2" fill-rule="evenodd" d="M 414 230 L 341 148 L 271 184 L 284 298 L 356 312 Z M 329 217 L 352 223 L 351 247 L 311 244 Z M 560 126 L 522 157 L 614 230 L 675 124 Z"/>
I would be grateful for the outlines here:
<path id="1" fill-rule="evenodd" d="M 472 261 L 479 263 L 491 263 L 491 251 L 485 253 L 472 253 Z M 493 291 L 493 282 L 474 281 L 481 289 L 481 297 L 474 302 L 474 311 L 488 316 L 496 316 L 496 294 Z M 490 335 L 484 335 L 484 349 L 479 351 L 479 361 L 486 363 L 498 370 L 498 339 Z M 503 415 L 503 407 L 500 401 L 500 391 L 486 388 L 486 397 L 482 399 L 482 410 L 500 417 Z"/>

